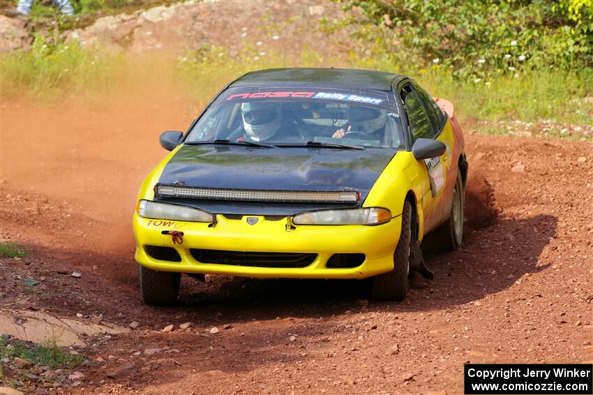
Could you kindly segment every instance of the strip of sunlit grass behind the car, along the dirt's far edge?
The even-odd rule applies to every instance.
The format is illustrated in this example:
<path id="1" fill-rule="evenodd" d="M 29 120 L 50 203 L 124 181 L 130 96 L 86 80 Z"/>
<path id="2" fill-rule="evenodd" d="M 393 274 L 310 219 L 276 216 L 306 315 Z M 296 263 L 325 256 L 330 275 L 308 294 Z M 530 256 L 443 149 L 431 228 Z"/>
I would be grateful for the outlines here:
<path id="1" fill-rule="evenodd" d="M 398 69 L 389 57 L 350 54 L 345 63 L 353 68 L 370 68 L 410 75 L 435 96 L 456 106 L 460 121 L 548 121 L 563 125 L 593 125 L 593 70 L 528 70 L 517 75 L 499 75 L 488 80 L 459 80 L 440 65 Z M 139 70 L 153 70 L 127 54 L 112 54 L 98 48 L 83 48 L 59 38 L 37 36 L 29 51 L 12 52 L 0 58 L 0 97 L 52 102 L 70 98 L 97 101 L 105 95 L 128 94 Z M 228 82 L 250 70 L 278 67 L 320 67 L 320 54 L 304 50 L 300 56 L 264 52 L 246 45 L 237 56 L 224 47 L 203 47 L 179 57 L 177 66 L 163 68 L 165 76 L 181 86 L 181 93 L 202 108 Z M 170 80 L 169 80 L 170 81 Z M 80 100 L 83 98 L 83 100 Z M 89 100 L 87 100 L 88 102 Z M 553 133 L 549 134 L 550 136 Z M 575 138 L 558 134 L 561 138 Z M 591 136 L 583 136 L 590 140 Z M 576 137 L 580 138 L 580 137 Z"/>

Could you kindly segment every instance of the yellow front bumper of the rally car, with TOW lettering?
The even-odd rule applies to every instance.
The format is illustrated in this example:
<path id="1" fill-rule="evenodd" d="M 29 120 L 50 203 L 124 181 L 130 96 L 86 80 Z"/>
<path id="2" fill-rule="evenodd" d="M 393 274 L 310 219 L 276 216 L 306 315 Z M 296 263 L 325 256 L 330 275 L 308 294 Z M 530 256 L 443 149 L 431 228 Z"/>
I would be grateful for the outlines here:
<path id="1" fill-rule="evenodd" d="M 363 279 L 393 270 L 393 251 L 401 230 L 401 217 L 377 226 L 305 226 L 287 231 L 287 220 L 257 217 L 255 225 L 241 219 L 218 215 L 216 226 L 196 222 L 161 221 L 134 214 L 137 263 L 165 272 L 227 274 L 254 278 Z M 183 232 L 183 243 L 174 244 L 163 231 Z M 161 261 L 147 254 L 145 246 L 172 247 L 181 262 Z M 202 263 L 190 249 L 317 254 L 305 268 L 264 268 L 257 266 Z M 333 254 L 365 254 L 356 268 L 326 268 Z"/>

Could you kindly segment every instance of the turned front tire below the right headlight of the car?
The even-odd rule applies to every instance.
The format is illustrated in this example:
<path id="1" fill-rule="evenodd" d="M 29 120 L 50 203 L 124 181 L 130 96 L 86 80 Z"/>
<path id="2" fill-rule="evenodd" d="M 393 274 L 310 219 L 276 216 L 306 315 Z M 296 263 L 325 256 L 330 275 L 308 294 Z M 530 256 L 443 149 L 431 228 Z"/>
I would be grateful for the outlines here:
<path id="1" fill-rule="evenodd" d="M 393 270 L 373 277 L 370 293 L 375 300 L 404 300 L 407 276 L 410 274 L 410 239 L 412 238 L 412 205 L 404 202 L 402 230 L 393 251 Z"/>

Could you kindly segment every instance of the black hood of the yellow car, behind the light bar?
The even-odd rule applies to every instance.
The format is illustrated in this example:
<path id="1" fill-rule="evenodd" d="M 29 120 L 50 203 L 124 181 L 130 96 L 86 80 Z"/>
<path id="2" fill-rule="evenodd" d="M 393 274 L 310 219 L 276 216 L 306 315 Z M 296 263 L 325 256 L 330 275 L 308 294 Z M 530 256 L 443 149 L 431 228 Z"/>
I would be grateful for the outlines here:
<path id="1" fill-rule="evenodd" d="M 182 182 L 191 187 L 226 189 L 350 189 L 361 193 L 362 203 L 396 152 L 390 149 L 185 145 L 167 163 L 159 183 L 172 185 Z M 248 203 L 177 198 L 166 200 L 216 213 L 246 215 L 291 215 L 303 210 L 337 207 L 335 204 L 328 206 L 317 203 Z"/>

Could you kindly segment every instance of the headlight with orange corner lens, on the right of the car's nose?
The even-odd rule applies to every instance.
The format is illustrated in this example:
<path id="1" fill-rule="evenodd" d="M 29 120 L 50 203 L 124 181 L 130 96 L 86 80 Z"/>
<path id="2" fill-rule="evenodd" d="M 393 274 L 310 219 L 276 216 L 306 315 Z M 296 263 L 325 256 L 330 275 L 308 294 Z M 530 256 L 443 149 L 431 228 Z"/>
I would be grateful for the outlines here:
<path id="1" fill-rule="evenodd" d="M 386 208 L 357 208 L 355 210 L 323 210 L 297 214 L 292 222 L 297 225 L 378 225 L 391 220 Z"/>

